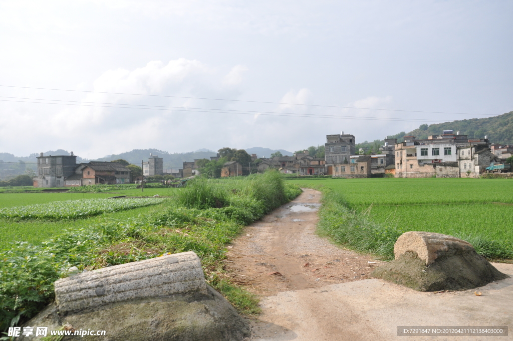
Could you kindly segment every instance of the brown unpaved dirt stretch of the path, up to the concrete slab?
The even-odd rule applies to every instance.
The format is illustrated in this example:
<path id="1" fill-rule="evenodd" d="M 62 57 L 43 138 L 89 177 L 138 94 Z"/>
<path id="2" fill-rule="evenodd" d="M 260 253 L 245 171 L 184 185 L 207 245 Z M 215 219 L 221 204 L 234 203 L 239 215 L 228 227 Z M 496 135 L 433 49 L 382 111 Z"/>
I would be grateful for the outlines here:
<path id="1" fill-rule="evenodd" d="M 314 234 L 320 199 L 320 192 L 304 189 L 248 226 L 227 254 L 230 277 L 262 295 L 369 278 L 379 261 Z"/>

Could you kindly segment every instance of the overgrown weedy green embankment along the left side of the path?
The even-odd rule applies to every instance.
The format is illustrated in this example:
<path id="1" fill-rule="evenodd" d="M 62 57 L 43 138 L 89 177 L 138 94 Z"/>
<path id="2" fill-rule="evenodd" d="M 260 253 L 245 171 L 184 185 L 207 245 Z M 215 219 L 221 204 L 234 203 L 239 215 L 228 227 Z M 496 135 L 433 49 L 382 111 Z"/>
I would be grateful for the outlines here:
<path id="1" fill-rule="evenodd" d="M 242 312 L 257 300 L 223 276 L 225 245 L 243 225 L 293 199 L 301 191 L 275 172 L 239 179 L 196 179 L 154 209 L 126 219 L 96 218 L 38 245 L 18 242 L 0 252 L 0 330 L 21 324 L 53 299 L 53 282 L 70 267 L 106 266 L 194 251 L 210 284 Z M 19 319 L 19 320 L 18 320 Z"/>

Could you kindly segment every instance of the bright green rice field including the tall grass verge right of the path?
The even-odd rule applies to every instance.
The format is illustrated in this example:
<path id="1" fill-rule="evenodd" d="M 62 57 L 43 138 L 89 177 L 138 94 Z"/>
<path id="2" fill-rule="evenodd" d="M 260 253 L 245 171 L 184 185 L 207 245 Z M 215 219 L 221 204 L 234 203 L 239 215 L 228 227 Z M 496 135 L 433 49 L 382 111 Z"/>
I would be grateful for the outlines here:
<path id="1" fill-rule="evenodd" d="M 319 232 L 348 247 L 393 258 L 407 231 L 467 240 L 491 259 L 513 258 L 510 180 L 332 179 L 301 186 L 324 193 Z"/>

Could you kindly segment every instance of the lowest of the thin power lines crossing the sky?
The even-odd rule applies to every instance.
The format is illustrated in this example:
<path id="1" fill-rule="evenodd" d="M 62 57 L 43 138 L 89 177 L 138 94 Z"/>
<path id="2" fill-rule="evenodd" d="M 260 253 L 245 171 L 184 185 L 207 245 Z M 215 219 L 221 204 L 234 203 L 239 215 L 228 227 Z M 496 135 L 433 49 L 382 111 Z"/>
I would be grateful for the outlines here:
<path id="1" fill-rule="evenodd" d="M 160 111 L 185 111 L 185 112 L 199 112 L 199 113 L 233 113 L 236 115 L 262 115 L 262 116 L 281 116 L 281 117 L 304 117 L 304 118 L 322 118 L 322 119 L 344 119 L 344 120 L 370 120 L 370 121 L 403 121 L 403 122 L 441 122 L 441 120 L 418 120 L 418 119 L 398 119 L 398 118 L 370 118 L 370 117 L 355 117 L 355 116 L 336 116 L 336 115 L 314 115 L 314 114 L 285 114 L 285 113 L 251 113 L 251 112 L 225 112 L 225 111 L 210 111 L 221 109 L 209 110 L 187 110 L 184 109 L 165 109 L 165 108 L 151 108 L 151 107 L 130 107 L 130 106 L 117 106 L 117 105 L 89 105 L 89 104 L 75 104 L 75 103 L 50 103 L 50 102 L 34 102 L 34 101 L 16 101 L 16 100 L 2 100 L 3 102 L 17 102 L 17 103 L 35 103 L 35 104 L 54 104 L 54 105 L 73 105 L 73 106 L 88 106 L 100 108 L 121 108 L 121 109 L 146 109 L 146 110 L 160 110 Z"/>

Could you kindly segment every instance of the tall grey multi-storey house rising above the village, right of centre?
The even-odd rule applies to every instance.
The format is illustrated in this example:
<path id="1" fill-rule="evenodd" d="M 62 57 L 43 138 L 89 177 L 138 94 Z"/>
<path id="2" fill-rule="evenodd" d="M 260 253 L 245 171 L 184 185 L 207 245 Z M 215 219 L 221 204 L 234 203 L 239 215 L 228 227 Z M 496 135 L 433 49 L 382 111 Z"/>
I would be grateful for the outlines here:
<path id="1" fill-rule="evenodd" d="M 324 156 L 326 161 L 326 175 L 333 174 L 333 165 L 348 163 L 351 155 L 356 154 L 356 142 L 354 135 L 326 135 L 324 144 Z"/>

